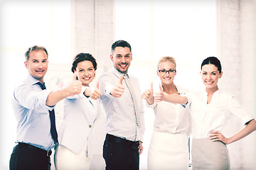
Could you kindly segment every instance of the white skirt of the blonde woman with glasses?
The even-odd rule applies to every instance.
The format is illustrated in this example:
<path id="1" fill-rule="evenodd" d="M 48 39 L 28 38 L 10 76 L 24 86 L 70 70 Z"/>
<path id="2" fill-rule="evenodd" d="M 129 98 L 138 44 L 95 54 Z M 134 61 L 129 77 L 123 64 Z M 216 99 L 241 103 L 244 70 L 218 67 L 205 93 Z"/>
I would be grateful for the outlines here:
<path id="1" fill-rule="evenodd" d="M 188 170 L 188 137 L 154 131 L 148 154 L 149 170 Z"/>

